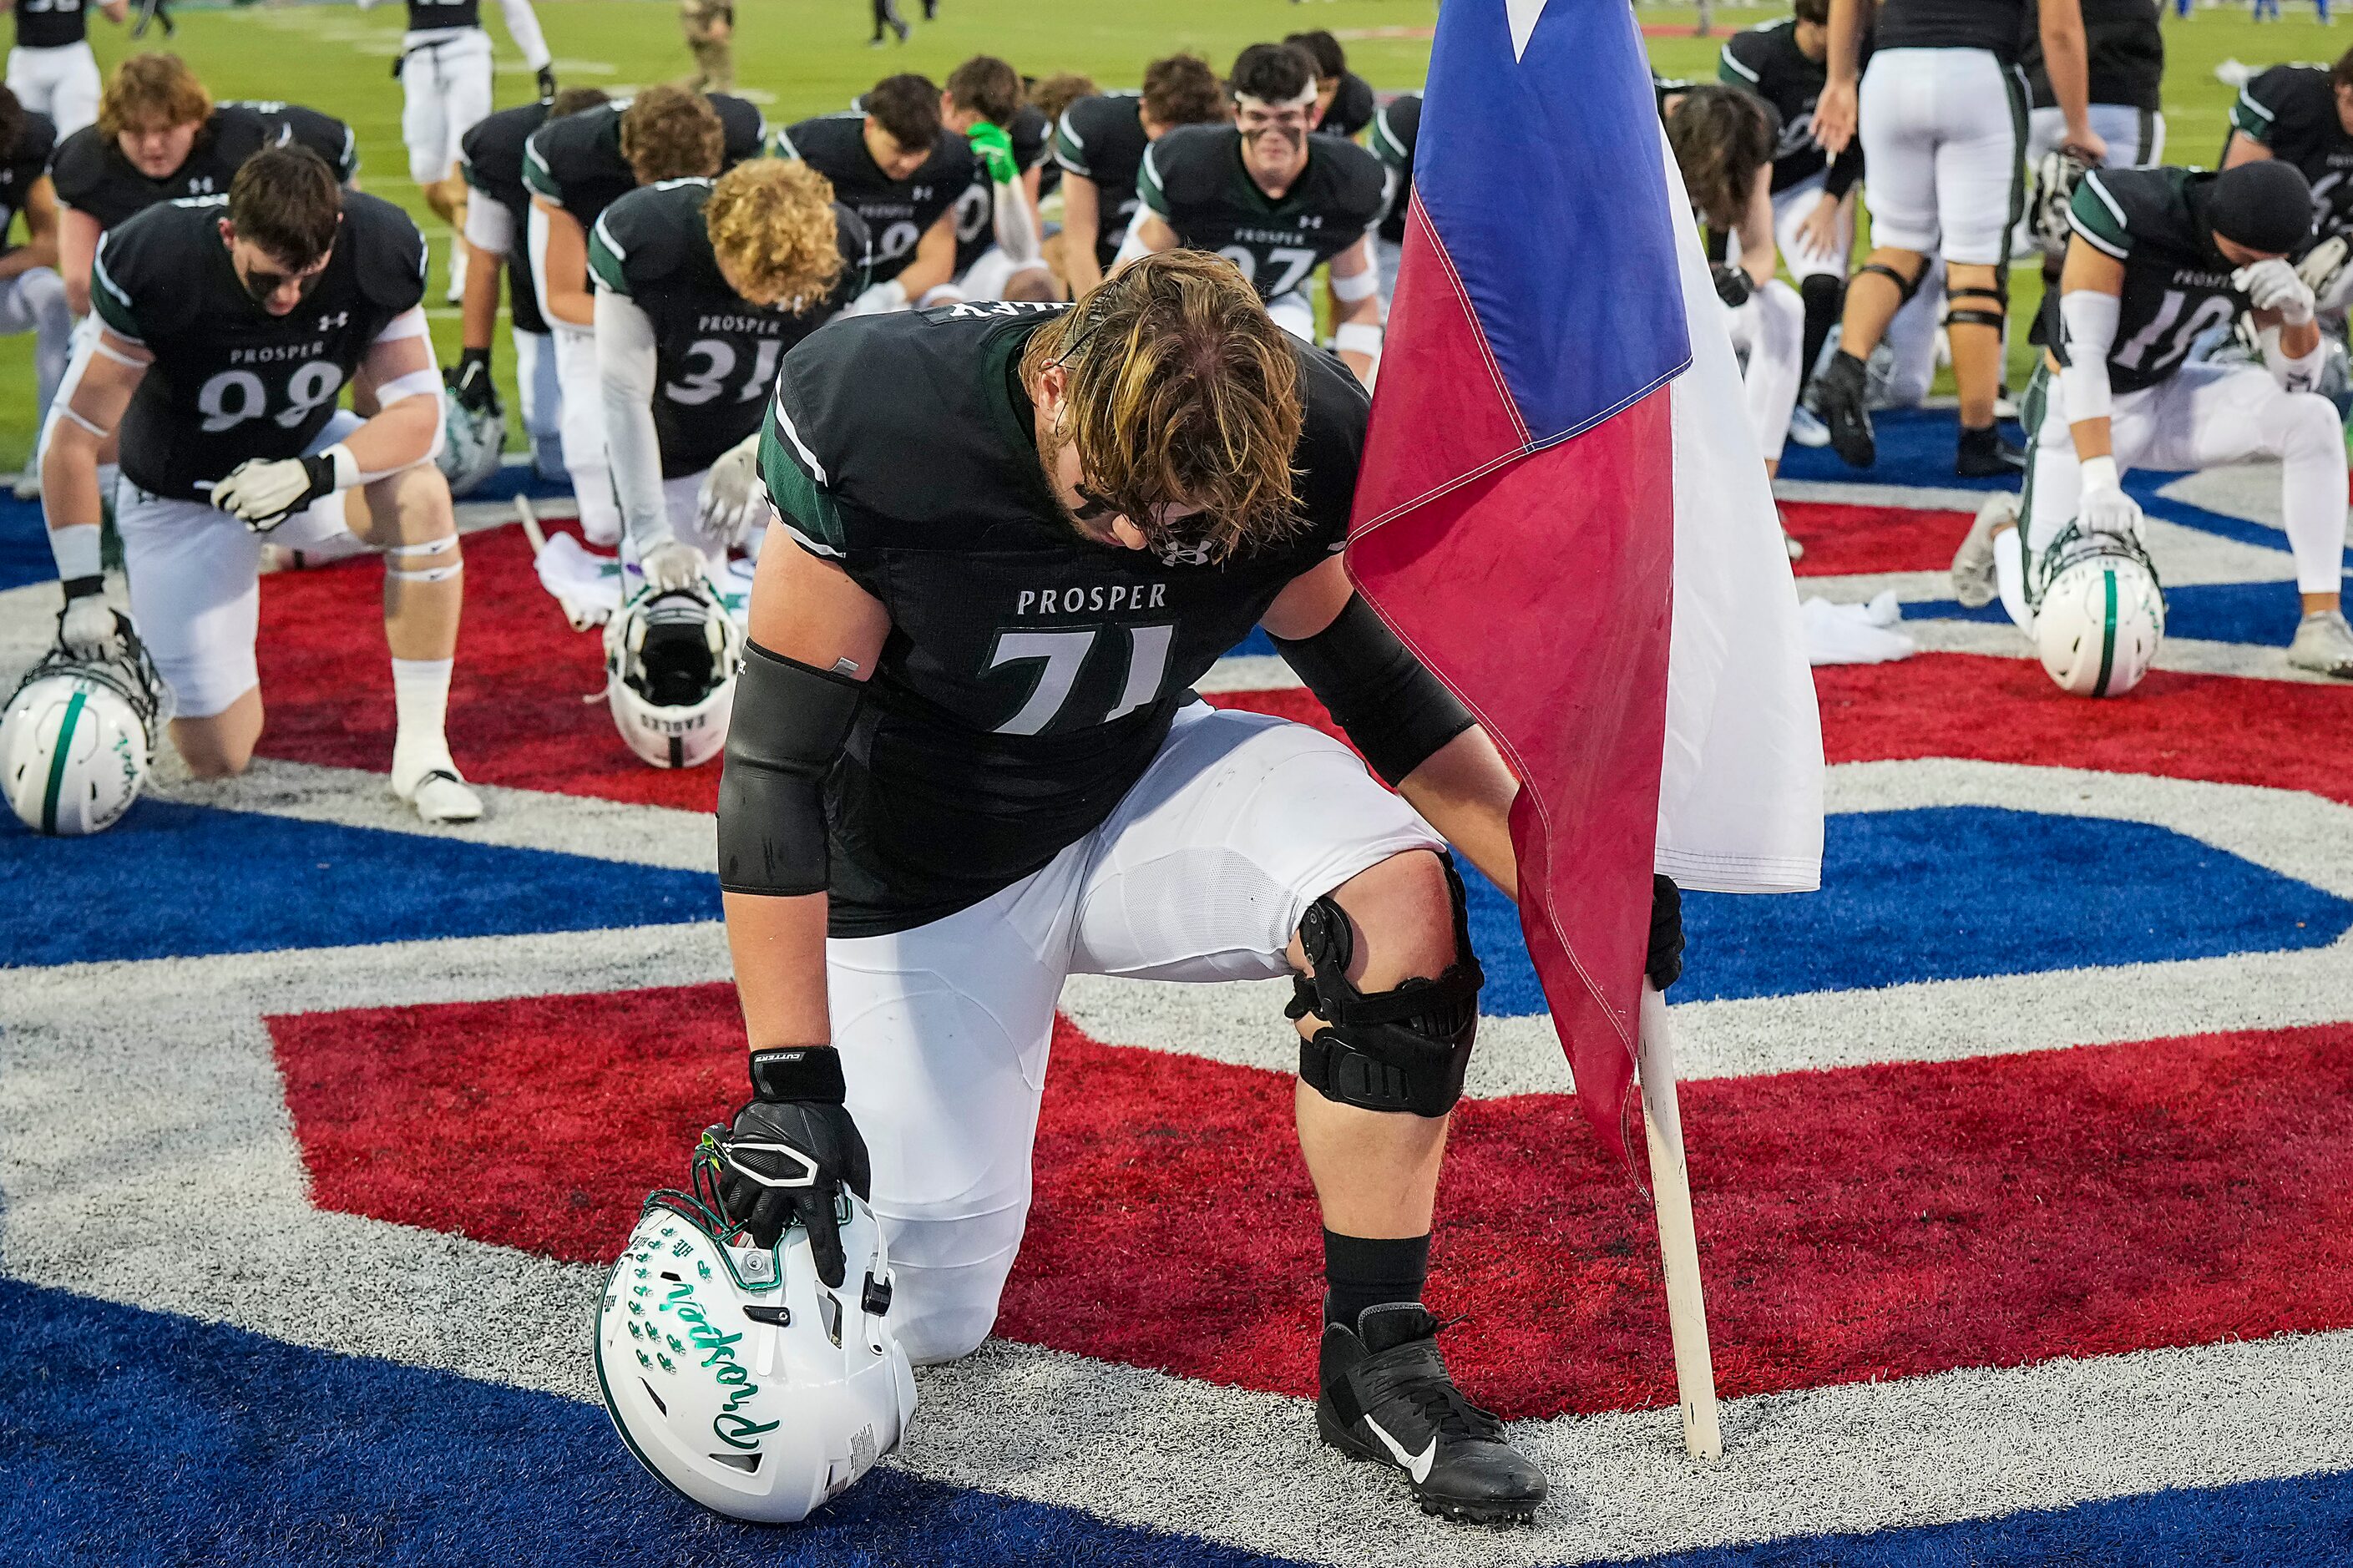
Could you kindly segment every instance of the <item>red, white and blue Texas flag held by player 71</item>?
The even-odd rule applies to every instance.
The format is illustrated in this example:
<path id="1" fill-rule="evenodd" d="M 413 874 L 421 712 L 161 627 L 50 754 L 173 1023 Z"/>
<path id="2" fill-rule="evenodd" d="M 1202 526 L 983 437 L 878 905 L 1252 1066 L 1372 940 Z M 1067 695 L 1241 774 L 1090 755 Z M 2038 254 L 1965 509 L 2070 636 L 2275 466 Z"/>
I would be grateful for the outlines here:
<path id="1" fill-rule="evenodd" d="M 1821 723 L 1626 5 L 1438 14 L 1348 570 L 1522 779 L 1520 925 L 1628 1158 L 1652 869 L 1817 888 Z"/>

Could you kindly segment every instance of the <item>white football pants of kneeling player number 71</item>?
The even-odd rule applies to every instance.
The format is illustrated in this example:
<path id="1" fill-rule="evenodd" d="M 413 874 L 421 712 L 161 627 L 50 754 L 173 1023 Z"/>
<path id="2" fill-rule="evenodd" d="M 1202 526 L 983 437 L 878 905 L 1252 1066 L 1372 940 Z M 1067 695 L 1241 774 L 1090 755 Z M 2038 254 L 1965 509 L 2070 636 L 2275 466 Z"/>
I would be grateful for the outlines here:
<path id="1" fill-rule="evenodd" d="M 1320 730 L 1191 704 L 1111 819 L 1045 869 L 915 930 L 828 939 L 833 1043 L 908 1356 L 953 1361 L 995 1323 L 1066 975 L 1289 975 L 1308 904 L 1442 848 Z M 1266 1029 L 1289 1024 L 1268 1008 Z"/>

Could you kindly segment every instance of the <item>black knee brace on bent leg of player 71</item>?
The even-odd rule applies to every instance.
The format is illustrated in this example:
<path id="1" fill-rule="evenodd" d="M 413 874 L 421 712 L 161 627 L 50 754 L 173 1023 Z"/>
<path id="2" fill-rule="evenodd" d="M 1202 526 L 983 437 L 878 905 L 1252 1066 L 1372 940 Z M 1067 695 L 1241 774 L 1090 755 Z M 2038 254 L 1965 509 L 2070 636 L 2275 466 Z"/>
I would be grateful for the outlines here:
<path id="1" fill-rule="evenodd" d="M 1445 1116 L 1464 1097 L 1464 1069 L 1478 1038 L 1478 989 L 1487 975 L 1471 954 L 1471 913 L 1454 857 L 1440 855 L 1454 899 L 1454 963 L 1438 979 L 1407 979 L 1365 996 L 1348 982 L 1355 937 L 1348 913 L 1325 895 L 1299 921 L 1311 975 L 1292 989 L 1285 1017 L 1325 1022 L 1299 1043 L 1299 1081 L 1334 1104 L 1367 1111 Z"/>

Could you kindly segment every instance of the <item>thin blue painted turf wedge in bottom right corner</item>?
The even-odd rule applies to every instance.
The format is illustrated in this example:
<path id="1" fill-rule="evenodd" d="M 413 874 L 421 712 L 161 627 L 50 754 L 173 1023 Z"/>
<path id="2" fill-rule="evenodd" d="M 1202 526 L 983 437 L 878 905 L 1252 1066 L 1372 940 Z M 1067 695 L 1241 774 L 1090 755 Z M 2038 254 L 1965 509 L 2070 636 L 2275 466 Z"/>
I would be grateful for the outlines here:
<path id="1" fill-rule="evenodd" d="M 2339 1568 L 2353 1561 L 2353 1474 L 2245 1481 L 1965 1519 L 1878 1535 L 1805 1535 L 1649 1556 L 1640 1568 Z M 1635 1568 L 1628 1563 L 1628 1568 Z"/>

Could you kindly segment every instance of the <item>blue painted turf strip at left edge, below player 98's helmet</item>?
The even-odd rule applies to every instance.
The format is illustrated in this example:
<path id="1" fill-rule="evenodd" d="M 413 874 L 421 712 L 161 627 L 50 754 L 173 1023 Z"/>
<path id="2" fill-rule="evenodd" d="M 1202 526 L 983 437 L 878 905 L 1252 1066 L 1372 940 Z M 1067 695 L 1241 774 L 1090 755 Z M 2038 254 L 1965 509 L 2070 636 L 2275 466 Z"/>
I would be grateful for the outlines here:
<path id="1" fill-rule="evenodd" d="M 718 878 L 139 800 L 106 833 L 0 812 L 0 965 L 715 921 Z"/>

